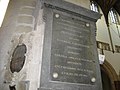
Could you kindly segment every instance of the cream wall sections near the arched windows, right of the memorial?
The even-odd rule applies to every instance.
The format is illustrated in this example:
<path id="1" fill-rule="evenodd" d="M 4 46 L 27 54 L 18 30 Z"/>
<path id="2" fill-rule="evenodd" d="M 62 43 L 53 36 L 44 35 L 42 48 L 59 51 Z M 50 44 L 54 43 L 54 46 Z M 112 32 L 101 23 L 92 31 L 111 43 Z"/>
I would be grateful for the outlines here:
<path id="1" fill-rule="evenodd" d="M 100 10 L 100 12 L 101 12 L 101 10 Z M 110 32 L 111 32 L 112 41 L 113 41 L 114 50 L 115 50 L 115 45 L 120 46 L 120 38 L 118 35 L 116 24 L 113 24 L 111 22 L 110 17 L 109 17 L 109 22 L 110 22 Z M 118 25 L 118 27 L 119 27 L 118 29 L 120 31 L 120 25 Z M 96 37 L 96 39 L 98 41 L 109 43 L 109 45 L 111 47 L 110 38 L 109 38 L 109 34 L 108 34 L 108 28 L 106 26 L 106 22 L 105 22 L 103 15 L 102 15 L 101 19 L 99 19 L 97 21 L 97 37 Z M 111 51 L 104 51 L 104 52 L 105 52 L 105 59 L 113 66 L 116 73 L 119 74 L 119 71 L 120 71 L 120 53 L 116 53 L 116 52 L 112 53 Z"/>

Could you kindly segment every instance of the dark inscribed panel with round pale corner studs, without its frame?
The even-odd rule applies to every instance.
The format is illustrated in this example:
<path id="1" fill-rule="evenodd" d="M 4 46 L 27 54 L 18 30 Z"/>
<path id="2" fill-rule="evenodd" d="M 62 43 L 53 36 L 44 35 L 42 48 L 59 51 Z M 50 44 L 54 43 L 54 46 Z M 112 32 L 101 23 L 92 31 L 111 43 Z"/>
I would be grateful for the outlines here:
<path id="1" fill-rule="evenodd" d="M 54 13 L 51 45 L 51 80 L 92 84 L 96 78 L 90 23 Z"/>

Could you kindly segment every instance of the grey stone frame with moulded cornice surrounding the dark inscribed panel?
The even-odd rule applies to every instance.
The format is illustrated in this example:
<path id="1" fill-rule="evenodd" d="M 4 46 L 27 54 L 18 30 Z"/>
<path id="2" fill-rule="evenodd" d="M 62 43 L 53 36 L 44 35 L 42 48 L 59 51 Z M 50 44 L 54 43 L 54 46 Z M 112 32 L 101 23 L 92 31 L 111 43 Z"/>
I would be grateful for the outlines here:
<path id="1" fill-rule="evenodd" d="M 97 54 L 97 45 L 95 40 L 96 21 L 100 14 L 87 10 L 83 7 L 64 2 L 63 0 L 43 0 L 41 1 L 44 10 L 45 32 L 44 47 L 42 56 L 42 67 L 39 90 L 102 90 L 99 60 Z M 54 12 L 72 14 L 76 18 L 89 22 L 91 27 L 91 39 L 96 63 L 96 82 L 93 85 L 52 81 L 50 77 L 50 59 L 52 45 L 52 24 Z"/>

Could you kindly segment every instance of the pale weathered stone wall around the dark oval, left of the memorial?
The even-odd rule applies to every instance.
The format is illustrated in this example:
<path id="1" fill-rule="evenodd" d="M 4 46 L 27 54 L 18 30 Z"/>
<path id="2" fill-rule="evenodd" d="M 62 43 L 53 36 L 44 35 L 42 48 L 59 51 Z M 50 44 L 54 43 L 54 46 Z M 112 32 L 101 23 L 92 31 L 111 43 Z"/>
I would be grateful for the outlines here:
<path id="1" fill-rule="evenodd" d="M 39 19 L 38 19 L 39 18 Z M 39 0 L 11 0 L 0 28 L 0 90 L 37 90 L 44 38 L 44 22 Z M 27 47 L 26 60 L 18 73 L 10 71 L 11 56 L 17 45 Z"/>

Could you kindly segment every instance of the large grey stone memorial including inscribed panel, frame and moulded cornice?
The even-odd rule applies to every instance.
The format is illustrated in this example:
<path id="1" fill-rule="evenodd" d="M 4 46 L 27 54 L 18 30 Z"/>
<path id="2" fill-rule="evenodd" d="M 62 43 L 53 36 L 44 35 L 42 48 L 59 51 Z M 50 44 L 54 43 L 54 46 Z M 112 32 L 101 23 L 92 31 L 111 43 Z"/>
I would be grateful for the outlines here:
<path id="1" fill-rule="evenodd" d="M 63 0 L 42 0 L 42 7 L 39 90 L 102 90 L 95 40 L 100 15 Z"/>

